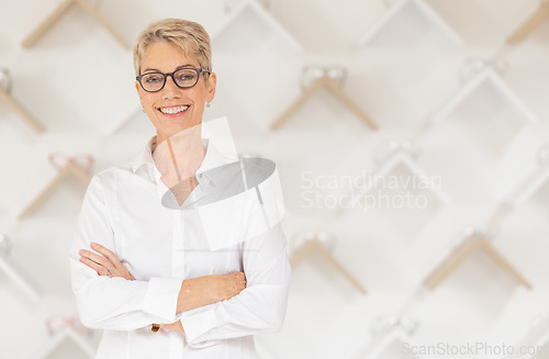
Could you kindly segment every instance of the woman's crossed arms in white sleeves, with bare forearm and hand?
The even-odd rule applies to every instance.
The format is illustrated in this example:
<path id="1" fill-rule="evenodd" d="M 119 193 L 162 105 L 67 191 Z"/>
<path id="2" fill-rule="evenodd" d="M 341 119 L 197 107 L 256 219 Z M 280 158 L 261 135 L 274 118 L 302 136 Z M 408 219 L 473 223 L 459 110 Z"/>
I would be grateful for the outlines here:
<path id="1" fill-rule="evenodd" d="M 257 234 L 249 231 L 254 235 L 242 243 L 246 276 L 134 280 L 111 251 L 115 246 L 110 205 L 114 204 L 103 195 L 101 182 L 94 177 L 88 187 L 70 250 L 72 290 L 86 326 L 133 330 L 158 323 L 169 330 L 184 328 L 187 343 L 195 348 L 282 326 L 291 268 L 280 223 Z M 247 223 L 260 223 L 261 211 L 254 206 L 247 212 Z M 92 246 L 92 238 L 102 247 Z"/>

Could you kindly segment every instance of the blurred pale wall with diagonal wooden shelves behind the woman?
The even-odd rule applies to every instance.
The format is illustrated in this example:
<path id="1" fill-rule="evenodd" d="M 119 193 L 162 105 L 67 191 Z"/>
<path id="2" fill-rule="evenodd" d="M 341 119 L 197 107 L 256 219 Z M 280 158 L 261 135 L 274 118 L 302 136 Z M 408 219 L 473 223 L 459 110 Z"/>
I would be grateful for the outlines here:
<path id="1" fill-rule="evenodd" d="M 155 134 L 131 48 L 168 16 L 212 36 L 204 121 L 278 165 L 293 278 L 261 358 L 549 358 L 548 7 L 0 0 L 0 358 L 93 357 L 67 251 L 89 176 Z"/>

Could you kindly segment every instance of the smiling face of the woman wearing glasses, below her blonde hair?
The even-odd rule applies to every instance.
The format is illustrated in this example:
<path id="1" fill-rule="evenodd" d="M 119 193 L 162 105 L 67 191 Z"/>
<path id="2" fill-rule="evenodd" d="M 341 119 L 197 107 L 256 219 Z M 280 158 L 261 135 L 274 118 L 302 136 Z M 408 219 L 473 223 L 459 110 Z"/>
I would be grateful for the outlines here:
<path id="1" fill-rule="evenodd" d="M 200 68 L 194 56 L 184 55 L 178 46 L 167 42 L 148 45 L 141 60 L 142 75 L 173 72 L 182 67 Z M 160 91 L 147 92 L 143 90 L 138 81 L 135 81 L 143 109 L 156 127 L 158 144 L 175 134 L 201 124 L 205 102 L 211 102 L 215 96 L 215 74 L 210 74 L 208 80 L 201 74 L 194 87 L 181 89 L 168 76 Z"/>

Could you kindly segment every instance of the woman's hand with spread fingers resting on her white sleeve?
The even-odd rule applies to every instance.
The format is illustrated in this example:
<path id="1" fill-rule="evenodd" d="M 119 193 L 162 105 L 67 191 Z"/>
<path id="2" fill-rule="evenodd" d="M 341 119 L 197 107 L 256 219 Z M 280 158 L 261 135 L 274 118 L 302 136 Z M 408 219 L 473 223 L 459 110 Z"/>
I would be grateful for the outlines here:
<path id="1" fill-rule="evenodd" d="M 80 261 L 97 271 L 99 276 L 108 276 L 110 278 L 121 277 L 126 280 L 135 280 L 134 276 L 132 276 L 122 265 L 119 257 L 116 257 L 112 250 L 97 243 L 91 244 L 91 249 L 100 253 L 100 255 L 81 249 L 78 253 L 80 255 Z"/>

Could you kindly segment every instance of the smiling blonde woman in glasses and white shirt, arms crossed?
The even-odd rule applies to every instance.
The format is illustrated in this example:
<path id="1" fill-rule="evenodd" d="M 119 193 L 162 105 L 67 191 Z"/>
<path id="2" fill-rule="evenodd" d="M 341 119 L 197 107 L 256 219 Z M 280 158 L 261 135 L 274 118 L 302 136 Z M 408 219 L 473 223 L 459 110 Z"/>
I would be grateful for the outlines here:
<path id="1" fill-rule="evenodd" d="M 283 323 L 291 270 L 280 223 L 257 231 L 272 193 L 217 201 L 215 215 L 186 206 L 209 200 L 209 171 L 235 161 L 201 132 L 216 86 L 210 37 L 190 21 L 153 23 L 134 65 L 156 136 L 88 187 L 70 253 L 80 318 L 104 329 L 98 359 L 255 358 L 253 335 Z"/>

